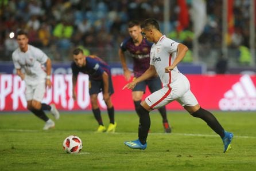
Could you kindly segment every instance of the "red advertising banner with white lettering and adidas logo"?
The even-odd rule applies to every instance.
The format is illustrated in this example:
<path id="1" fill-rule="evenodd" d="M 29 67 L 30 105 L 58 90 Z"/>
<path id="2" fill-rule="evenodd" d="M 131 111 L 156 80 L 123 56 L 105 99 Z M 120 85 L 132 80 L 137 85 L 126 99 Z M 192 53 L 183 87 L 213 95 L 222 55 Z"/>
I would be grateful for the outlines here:
<path id="1" fill-rule="evenodd" d="M 256 110 L 256 75 L 187 75 L 191 90 L 199 104 L 212 110 Z M 72 75 L 53 75 L 52 89 L 47 89 L 43 102 L 56 104 L 59 110 L 90 110 L 88 75 L 79 74 L 77 101 L 72 99 Z M 112 96 L 116 110 L 134 110 L 131 90 L 122 90 L 126 85 L 122 75 L 113 76 L 115 93 Z M 24 111 L 25 83 L 11 74 L 0 75 L 0 111 Z M 150 94 L 146 90 L 145 96 Z M 103 96 L 98 96 L 99 106 L 106 109 Z M 168 104 L 169 110 L 183 109 L 177 102 Z"/>

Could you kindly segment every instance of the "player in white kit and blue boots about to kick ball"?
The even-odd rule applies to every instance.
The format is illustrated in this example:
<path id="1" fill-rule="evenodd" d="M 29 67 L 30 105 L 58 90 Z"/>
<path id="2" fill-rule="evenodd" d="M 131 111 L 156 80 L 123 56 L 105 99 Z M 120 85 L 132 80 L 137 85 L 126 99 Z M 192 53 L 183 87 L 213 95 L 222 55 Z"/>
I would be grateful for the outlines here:
<path id="1" fill-rule="evenodd" d="M 127 83 L 123 89 L 133 89 L 138 82 L 148 79 L 156 73 L 164 87 L 150 94 L 145 101 L 141 102 L 137 108 L 139 112 L 138 140 L 126 141 L 125 145 L 133 149 L 146 149 L 146 138 L 150 128 L 149 112 L 176 100 L 193 117 L 201 118 L 219 134 L 224 144 L 225 153 L 231 148 L 231 140 L 234 135 L 226 132 L 212 113 L 200 107 L 190 90 L 187 77 L 181 74 L 177 68 L 177 64 L 184 58 L 188 47 L 165 37 L 160 31 L 156 19 L 146 19 L 141 27 L 148 41 L 154 43 L 150 50 L 150 67 L 140 77 Z"/>

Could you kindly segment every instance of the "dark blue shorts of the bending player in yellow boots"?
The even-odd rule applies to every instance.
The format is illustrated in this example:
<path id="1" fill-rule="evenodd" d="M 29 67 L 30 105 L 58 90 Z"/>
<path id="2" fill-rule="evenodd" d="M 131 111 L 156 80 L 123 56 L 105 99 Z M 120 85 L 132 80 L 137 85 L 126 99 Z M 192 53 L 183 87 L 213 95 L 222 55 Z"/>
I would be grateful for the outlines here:
<path id="1" fill-rule="evenodd" d="M 100 92 L 103 92 L 103 80 L 102 79 L 100 79 L 100 80 L 89 79 L 89 94 L 90 94 L 90 96 L 92 94 L 99 94 Z M 108 93 L 110 95 L 114 93 L 111 76 L 108 77 Z"/>

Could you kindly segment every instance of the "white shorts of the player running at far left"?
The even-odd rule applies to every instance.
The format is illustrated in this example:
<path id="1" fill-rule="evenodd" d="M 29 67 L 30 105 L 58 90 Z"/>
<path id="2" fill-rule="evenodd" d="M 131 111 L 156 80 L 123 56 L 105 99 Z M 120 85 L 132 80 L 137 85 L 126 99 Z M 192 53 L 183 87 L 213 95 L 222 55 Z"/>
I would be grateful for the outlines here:
<path id="1" fill-rule="evenodd" d="M 38 82 L 37 85 L 26 84 L 25 97 L 26 101 L 36 100 L 41 102 L 44 98 L 44 93 L 46 91 L 45 82 Z"/>

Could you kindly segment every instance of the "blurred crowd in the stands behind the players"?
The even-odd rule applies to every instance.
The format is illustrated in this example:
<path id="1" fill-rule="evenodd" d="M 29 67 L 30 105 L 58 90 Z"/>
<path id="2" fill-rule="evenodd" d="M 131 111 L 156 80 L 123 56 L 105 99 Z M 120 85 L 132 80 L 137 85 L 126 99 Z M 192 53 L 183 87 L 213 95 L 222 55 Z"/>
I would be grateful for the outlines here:
<path id="1" fill-rule="evenodd" d="M 187 1 L 189 9 L 191 1 Z M 207 23 L 199 43 L 203 49 L 220 48 L 223 1 L 206 2 Z M 231 47 L 249 47 L 249 2 L 234 0 L 235 33 L 230 38 Z M 88 54 L 108 54 L 115 61 L 118 55 L 114 49 L 128 35 L 127 21 L 153 17 L 163 23 L 163 13 L 162 0 L 0 0 L 0 61 L 11 59 L 17 43 L 10 33 L 18 29 L 27 30 L 30 44 L 45 49 L 54 61 L 68 60 L 70 49 L 75 46 L 83 47 Z M 192 27 L 177 30 L 178 13 L 177 1 L 170 1 L 167 35 L 176 36 L 177 41 L 191 47 Z"/>

